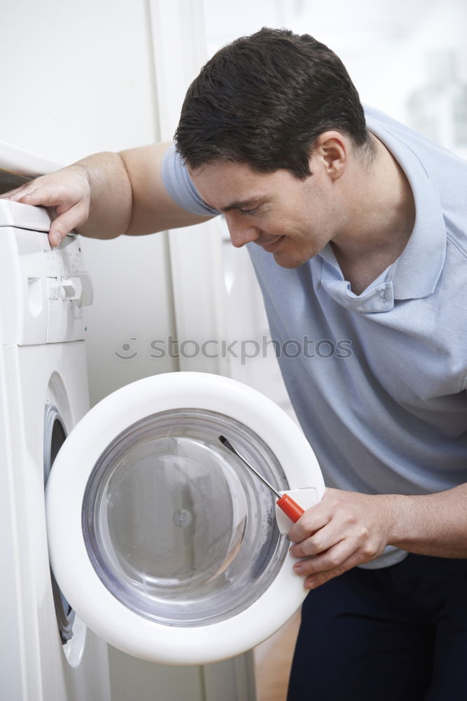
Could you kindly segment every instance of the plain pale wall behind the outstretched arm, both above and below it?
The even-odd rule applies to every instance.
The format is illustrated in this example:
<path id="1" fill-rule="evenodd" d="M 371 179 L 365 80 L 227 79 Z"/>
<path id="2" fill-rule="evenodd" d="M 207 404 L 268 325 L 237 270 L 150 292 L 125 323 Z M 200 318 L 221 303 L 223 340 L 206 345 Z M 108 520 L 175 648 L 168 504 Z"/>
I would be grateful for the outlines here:
<path id="1" fill-rule="evenodd" d="M 0 57 L 0 139 L 65 164 L 158 138 L 145 0 L 5 4 Z M 86 315 L 94 404 L 132 380 L 178 369 L 176 360 L 151 358 L 149 345 L 174 333 L 174 309 L 166 234 L 83 238 L 82 247 L 95 288 Z"/>

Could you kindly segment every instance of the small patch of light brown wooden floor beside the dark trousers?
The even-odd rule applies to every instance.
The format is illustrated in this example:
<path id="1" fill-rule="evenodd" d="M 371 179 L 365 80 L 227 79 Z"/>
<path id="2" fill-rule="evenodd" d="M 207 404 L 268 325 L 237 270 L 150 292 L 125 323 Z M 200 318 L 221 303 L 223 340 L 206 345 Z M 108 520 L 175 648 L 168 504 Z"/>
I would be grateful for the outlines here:
<path id="1" fill-rule="evenodd" d="M 297 611 L 276 634 L 255 648 L 257 701 L 286 701 L 299 625 L 300 611 Z"/>

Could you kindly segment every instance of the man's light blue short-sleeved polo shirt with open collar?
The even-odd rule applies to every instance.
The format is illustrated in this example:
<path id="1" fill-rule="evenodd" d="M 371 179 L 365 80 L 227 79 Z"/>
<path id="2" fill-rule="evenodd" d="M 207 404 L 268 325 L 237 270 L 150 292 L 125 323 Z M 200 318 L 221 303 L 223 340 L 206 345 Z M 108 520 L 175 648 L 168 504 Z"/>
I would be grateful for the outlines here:
<path id="1" fill-rule="evenodd" d="M 330 245 L 294 269 L 248 248 L 326 485 L 428 494 L 467 482 L 467 163 L 382 112 L 365 114 L 414 193 L 414 230 L 400 257 L 356 295 Z M 181 207 L 218 213 L 173 149 L 162 174 Z M 388 548 L 366 566 L 404 556 Z"/>

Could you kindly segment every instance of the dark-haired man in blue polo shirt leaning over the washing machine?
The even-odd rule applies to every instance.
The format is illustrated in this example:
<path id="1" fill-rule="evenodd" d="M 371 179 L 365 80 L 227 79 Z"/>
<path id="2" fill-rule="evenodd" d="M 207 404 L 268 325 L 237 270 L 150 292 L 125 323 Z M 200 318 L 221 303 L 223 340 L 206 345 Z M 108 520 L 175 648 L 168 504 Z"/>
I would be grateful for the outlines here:
<path id="1" fill-rule="evenodd" d="M 285 30 L 221 49 L 175 140 L 8 196 L 55 207 L 53 245 L 223 212 L 273 338 L 348 339 L 341 357 L 280 358 L 328 485 L 290 532 L 313 591 L 288 697 L 465 697 L 466 163 L 365 118 L 333 52 Z"/>

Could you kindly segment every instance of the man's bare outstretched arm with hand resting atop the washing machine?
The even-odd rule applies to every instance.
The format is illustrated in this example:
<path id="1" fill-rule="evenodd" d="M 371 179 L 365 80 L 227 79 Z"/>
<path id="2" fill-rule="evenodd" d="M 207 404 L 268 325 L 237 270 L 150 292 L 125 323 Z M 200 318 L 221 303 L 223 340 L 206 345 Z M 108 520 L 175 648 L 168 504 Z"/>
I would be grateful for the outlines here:
<path id="1" fill-rule="evenodd" d="M 161 165 L 169 145 L 88 156 L 1 197 L 53 207 L 51 245 L 72 229 L 92 238 L 115 238 L 207 221 L 209 217 L 183 210 L 167 194 Z"/>

